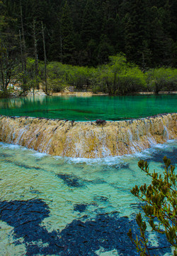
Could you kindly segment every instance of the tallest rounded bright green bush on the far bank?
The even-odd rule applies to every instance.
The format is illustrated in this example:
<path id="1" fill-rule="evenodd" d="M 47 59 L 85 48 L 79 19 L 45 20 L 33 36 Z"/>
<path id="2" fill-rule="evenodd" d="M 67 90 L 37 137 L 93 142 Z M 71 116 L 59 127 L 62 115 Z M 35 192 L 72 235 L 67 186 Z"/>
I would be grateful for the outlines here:
<path id="1" fill-rule="evenodd" d="M 110 63 L 98 68 L 97 77 L 93 77 L 93 88 L 99 87 L 110 95 L 126 95 L 137 92 L 146 86 L 144 74 L 134 64 L 127 63 L 125 55 L 110 56 Z"/>

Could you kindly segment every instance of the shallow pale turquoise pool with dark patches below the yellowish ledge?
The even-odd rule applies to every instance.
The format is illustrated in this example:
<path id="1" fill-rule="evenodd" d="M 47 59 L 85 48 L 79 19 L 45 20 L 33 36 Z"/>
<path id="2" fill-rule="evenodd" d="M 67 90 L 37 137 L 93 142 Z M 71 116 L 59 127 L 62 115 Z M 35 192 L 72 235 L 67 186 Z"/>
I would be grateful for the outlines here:
<path id="1" fill-rule="evenodd" d="M 127 238 L 140 210 L 130 189 L 149 183 L 137 161 L 162 171 L 164 155 L 174 164 L 177 142 L 106 159 L 54 157 L 0 143 L 0 255 L 137 255 Z M 154 254 L 170 255 L 164 237 L 150 238 L 161 247 Z"/>

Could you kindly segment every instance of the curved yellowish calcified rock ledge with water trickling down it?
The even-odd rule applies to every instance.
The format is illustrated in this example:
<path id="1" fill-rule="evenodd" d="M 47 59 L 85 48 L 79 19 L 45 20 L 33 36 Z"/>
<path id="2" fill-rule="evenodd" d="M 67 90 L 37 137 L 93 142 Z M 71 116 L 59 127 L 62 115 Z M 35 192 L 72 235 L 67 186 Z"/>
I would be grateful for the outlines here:
<path id="1" fill-rule="evenodd" d="M 142 151 L 176 139 L 177 113 L 127 121 L 72 122 L 0 116 L 0 141 L 57 156 L 97 158 Z"/>

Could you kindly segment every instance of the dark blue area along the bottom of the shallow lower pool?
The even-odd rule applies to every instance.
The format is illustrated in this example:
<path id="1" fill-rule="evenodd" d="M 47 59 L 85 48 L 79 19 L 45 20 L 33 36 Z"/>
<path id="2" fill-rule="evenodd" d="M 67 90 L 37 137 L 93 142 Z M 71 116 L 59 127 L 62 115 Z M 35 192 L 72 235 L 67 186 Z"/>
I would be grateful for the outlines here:
<path id="1" fill-rule="evenodd" d="M 83 212 L 86 205 L 75 208 Z M 73 220 L 60 233 L 50 233 L 40 225 L 49 215 L 50 209 L 40 199 L 0 202 L 0 219 L 13 227 L 15 238 L 23 238 L 25 255 L 96 256 L 101 247 L 105 251 L 117 250 L 122 256 L 138 255 L 127 237 L 130 227 L 132 233 L 137 233 L 135 219 L 119 218 L 117 213 L 101 214 L 85 222 Z M 164 255 L 171 251 L 163 235 L 158 235 L 157 240 L 159 247 L 152 247 L 152 253 Z M 14 243 L 18 245 L 19 241 Z"/>

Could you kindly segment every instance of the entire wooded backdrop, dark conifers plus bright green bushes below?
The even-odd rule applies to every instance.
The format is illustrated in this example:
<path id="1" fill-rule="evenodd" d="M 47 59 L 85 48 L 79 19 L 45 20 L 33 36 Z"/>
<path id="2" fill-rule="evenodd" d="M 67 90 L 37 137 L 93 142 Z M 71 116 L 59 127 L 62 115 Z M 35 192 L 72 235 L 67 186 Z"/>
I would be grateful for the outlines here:
<path id="1" fill-rule="evenodd" d="M 1 0 L 0 82 L 125 95 L 176 90 L 176 0 Z"/>

